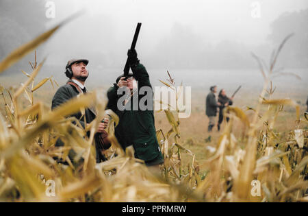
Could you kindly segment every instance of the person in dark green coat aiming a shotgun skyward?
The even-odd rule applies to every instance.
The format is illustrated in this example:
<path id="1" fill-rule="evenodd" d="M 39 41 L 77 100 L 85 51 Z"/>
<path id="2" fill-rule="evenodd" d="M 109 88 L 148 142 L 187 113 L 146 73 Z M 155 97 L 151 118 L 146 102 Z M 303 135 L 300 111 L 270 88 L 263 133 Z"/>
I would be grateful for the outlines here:
<path id="1" fill-rule="evenodd" d="M 120 119 L 115 136 L 123 149 L 133 145 L 136 158 L 144 160 L 148 166 L 158 166 L 164 163 L 164 158 L 156 137 L 149 74 L 140 64 L 135 50 L 129 50 L 128 56 L 133 73 L 129 73 L 128 77 L 120 75 L 114 86 L 109 88 L 107 108 L 112 109 Z M 147 99 L 144 101 L 144 98 Z"/>

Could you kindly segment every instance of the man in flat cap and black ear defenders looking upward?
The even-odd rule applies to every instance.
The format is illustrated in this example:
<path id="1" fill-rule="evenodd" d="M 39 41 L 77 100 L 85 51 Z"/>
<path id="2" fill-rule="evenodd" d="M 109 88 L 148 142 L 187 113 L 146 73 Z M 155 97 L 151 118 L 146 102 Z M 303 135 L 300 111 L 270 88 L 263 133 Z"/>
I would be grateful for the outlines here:
<path id="1" fill-rule="evenodd" d="M 68 77 L 68 81 L 64 86 L 61 86 L 53 96 L 51 109 L 64 104 L 66 101 L 72 99 L 73 97 L 77 97 L 79 94 L 86 93 L 85 82 L 89 75 L 88 69 L 86 69 L 88 62 L 89 61 L 86 59 L 72 59 L 67 62 L 65 67 L 65 75 Z M 77 112 L 74 115 L 71 115 L 71 117 L 76 117 L 76 119 L 79 119 L 79 123 L 82 125 L 82 127 L 86 128 L 86 124 L 95 119 L 96 112 L 93 108 L 86 108 L 84 115 L 82 115 L 81 112 Z M 84 121 L 84 117 L 86 117 L 86 122 Z M 102 151 L 110 147 L 110 143 L 107 140 L 107 133 L 104 130 L 107 127 L 107 123 L 108 119 L 103 119 L 103 121 L 99 123 L 97 133 L 94 135 L 95 148 L 97 152 L 97 163 L 105 160 Z M 56 146 L 63 145 L 64 143 L 58 139 Z M 71 150 L 69 154 L 70 160 L 73 160 L 74 156 L 75 152 Z"/>

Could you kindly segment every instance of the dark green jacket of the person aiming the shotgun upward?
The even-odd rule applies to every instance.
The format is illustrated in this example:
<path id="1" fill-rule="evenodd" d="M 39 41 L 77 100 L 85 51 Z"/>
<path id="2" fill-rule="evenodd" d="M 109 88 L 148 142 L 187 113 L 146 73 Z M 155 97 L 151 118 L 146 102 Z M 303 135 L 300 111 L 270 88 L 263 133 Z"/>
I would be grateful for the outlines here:
<path id="1" fill-rule="evenodd" d="M 133 76 L 138 81 L 138 89 L 142 86 L 149 86 L 152 90 L 149 74 L 146 72 L 145 67 L 142 64 L 137 64 L 136 67 L 131 69 Z M 115 136 L 120 145 L 123 149 L 133 145 L 135 157 L 145 162 L 154 160 L 159 156 L 162 158 L 156 138 L 153 106 L 151 110 L 140 110 L 139 107 L 138 110 L 133 110 L 133 104 L 138 103 L 144 96 L 138 95 L 138 100 L 131 97 L 131 110 L 125 109 L 121 111 L 117 107 L 117 102 L 122 95 L 118 95 L 117 91 L 118 86 L 116 84 L 107 91 L 109 99 L 107 108 L 116 112 L 116 115 L 120 118 L 120 122 L 115 128 Z M 151 91 L 151 94 L 153 96 L 153 91 Z"/>

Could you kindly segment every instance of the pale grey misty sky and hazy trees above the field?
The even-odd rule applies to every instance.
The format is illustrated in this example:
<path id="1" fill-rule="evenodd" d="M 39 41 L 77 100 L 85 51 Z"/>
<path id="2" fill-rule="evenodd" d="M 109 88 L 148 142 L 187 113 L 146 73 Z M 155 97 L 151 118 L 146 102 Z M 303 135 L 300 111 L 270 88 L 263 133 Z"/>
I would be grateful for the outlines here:
<path id="1" fill-rule="evenodd" d="M 38 48 L 38 61 L 47 57 L 40 77 L 53 75 L 64 84 L 66 62 L 87 58 L 86 84 L 112 84 L 123 73 L 127 49 L 141 22 L 136 50 L 153 85 L 168 78 L 168 70 L 176 84 L 183 81 L 205 93 L 213 84 L 227 88 L 229 95 L 240 84 L 258 91 L 263 78 L 251 53 L 269 63 L 272 50 L 294 33 L 277 69 L 296 73 L 301 80 L 277 77 L 274 84 L 287 86 L 286 96 L 298 91 L 307 95 L 307 0 L 0 0 L 0 60 L 75 12 L 81 15 Z M 34 61 L 33 54 L 3 72 L 0 84 L 8 86 L 5 79 L 15 76 L 13 80 L 21 82 L 21 70 L 31 72 L 29 61 Z"/>

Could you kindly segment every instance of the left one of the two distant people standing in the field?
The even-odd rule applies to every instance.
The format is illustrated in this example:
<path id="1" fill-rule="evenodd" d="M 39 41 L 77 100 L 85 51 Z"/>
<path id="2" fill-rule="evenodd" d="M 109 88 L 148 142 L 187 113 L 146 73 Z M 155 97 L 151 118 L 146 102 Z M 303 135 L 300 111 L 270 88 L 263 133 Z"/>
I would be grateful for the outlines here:
<path id="1" fill-rule="evenodd" d="M 215 125 L 215 117 L 217 113 L 217 108 L 221 104 L 216 101 L 215 93 L 217 93 L 217 86 L 211 86 L 209 90 L 210 92 L 207 95 L 206 104 L 205 104 L 205 107 L 206 107 L 205 114 L 207 115 L 207 117 L 209 117 L 209 126 L 207 128 L 207 131 L 211 132 L 211 130 L 213 129 Z"/>

